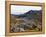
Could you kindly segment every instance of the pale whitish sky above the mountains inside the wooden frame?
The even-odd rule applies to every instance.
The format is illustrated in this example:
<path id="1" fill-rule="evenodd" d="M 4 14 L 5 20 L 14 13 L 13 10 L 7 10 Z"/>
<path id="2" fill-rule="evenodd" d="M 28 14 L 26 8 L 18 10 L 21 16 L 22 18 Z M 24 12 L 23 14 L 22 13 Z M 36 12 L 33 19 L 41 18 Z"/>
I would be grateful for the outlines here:
<path id="1" fill-rule="evenodd" d="M 11 14 L 20 15 L 28 12 L 29 10 L 41 10 L 40 6 L 19 6 L 11 5 Z"/>

